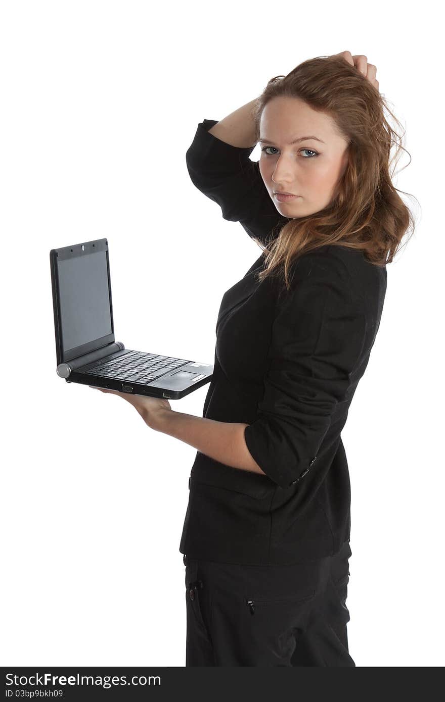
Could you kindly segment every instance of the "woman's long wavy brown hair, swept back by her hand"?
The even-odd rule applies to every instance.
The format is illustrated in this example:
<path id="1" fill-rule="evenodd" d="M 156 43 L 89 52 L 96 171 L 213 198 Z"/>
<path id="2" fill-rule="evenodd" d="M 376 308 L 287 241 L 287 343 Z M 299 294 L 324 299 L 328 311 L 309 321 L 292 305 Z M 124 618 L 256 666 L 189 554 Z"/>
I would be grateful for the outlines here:
<path id="1" fill-rule="evenodd" d="M 392 184 L 394 168 L 391 172 L 389 168 L 405 149 L 401 136 L 385 118 L 385 110 L 396 126 L 401 126 L 400 122 L 378 89 L 355 66 L 342 57 L 321 56 L 267 83 L 252 111 L 257 140 L 264 107 L 282 95 L 304 100 L 313 110 L 328 114 L 349 143 L 349 162 L 328 206 L 277 225 L 281 226 L 278 237 L 267 245 L 257 239 L 266 253 L 258 279 L 278 275 L 289 290 L 292 262 L 326 245 L 362 249 L 374 265 L 391 263 L 404 235 L 408 230 L 413 234 L 415 227 L 413 214 L 398 194 L 404 191 Z M 391 157 L 393 145 L 396 151 Z M 276 227 L 272 236 L 275 234 Z"/>

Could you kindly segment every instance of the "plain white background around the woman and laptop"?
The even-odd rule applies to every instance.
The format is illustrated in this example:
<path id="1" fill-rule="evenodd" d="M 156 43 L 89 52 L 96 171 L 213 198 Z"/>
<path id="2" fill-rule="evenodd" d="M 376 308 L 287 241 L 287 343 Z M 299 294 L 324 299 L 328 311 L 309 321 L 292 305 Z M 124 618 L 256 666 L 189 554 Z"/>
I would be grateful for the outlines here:
<path id="1" fill-rule="evenodd" d="M 349 50 L 406 128 L 415 235 L 342 432 L 357 666 L 444 664 L 443 70 L 426 3 L 1 4 L 1 665 L 185 665 L 179 552 L 195 449 L 56 375 L 49 251 L 108 238 L 115 337 L 212 363 L 261 253 L 185 154 L 277 74 Z M 259 159 L 259 146 L 252 153 Z M 407 166 L 402 171 L 401 168 Z M 202 416 L 207 387 L 172 401 Z"/>

